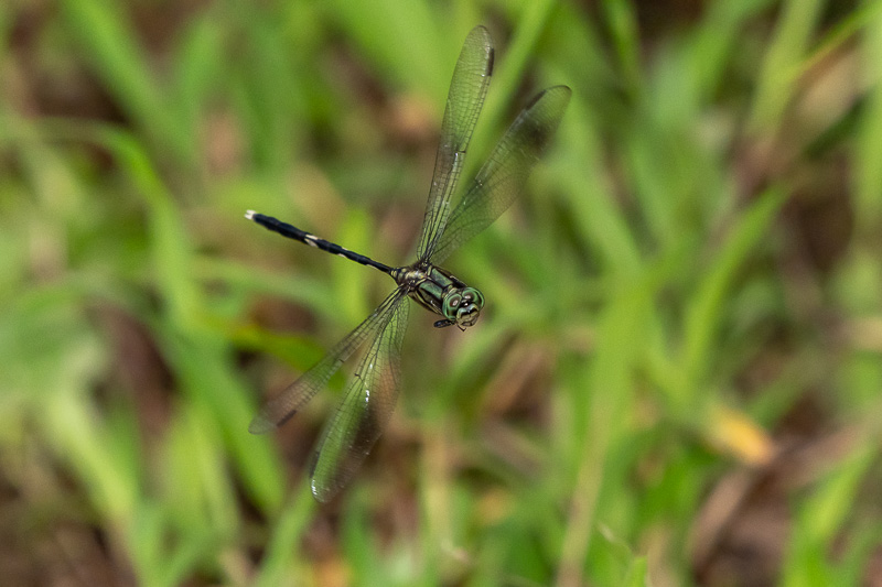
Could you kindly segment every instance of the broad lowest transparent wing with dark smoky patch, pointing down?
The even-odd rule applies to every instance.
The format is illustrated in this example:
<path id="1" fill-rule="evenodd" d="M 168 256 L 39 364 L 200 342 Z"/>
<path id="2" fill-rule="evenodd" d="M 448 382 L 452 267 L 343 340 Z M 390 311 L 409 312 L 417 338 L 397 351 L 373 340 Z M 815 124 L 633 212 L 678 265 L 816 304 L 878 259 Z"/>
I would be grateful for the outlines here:
<path id="1" fill-rule="evenodd" d="M 319 501 L 330 500 L 352 479 L 395 409 L 407 300 L 394 300 L 388 312 L 388 320 L 358 362 L 313 457 L 312 494 Z"/>

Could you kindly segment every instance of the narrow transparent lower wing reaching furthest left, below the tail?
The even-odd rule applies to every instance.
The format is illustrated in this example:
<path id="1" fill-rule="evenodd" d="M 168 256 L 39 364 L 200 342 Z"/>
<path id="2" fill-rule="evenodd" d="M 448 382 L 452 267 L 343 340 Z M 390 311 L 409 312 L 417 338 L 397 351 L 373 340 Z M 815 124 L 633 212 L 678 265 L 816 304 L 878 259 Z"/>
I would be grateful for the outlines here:
<path id="1" fill-rule="evenodd" d="M 268 401 L 257 415 L 251 420 L 248 432 L 251 434 L 265 434 L 272 428 L 281 426 L 298 410 L 303 407 L 320 389 L 327 384 L 331 376 L 340 369 L 343 361 L 349 358 L 355 349 L 362 346 L 372 334 L 380 330 L 394 315 L 396 308 L 405 297 L 402 290 L 395 290 L 383 303 L 377 306 L 370 316 L 355 327 L 353 331 L 336 344 L 322 360 L 315 363 L 309 371 L 288 385 L 278 396 Z M 373 343 L 372 346 L 376 344 Z"/>

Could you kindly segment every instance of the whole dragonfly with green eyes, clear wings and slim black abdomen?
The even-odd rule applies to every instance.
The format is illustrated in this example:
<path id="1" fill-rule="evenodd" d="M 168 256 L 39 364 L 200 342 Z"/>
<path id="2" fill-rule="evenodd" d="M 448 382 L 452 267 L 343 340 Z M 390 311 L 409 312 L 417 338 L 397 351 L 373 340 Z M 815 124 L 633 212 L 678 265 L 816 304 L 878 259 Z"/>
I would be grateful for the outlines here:
<path id="1" fill-rule="evenodd" d="M 465 330 L 477 322 L 484 307 L 483 294 L 439 264 L 512 205 L 569 104 L 571 91 L 567 86 L 553 86 L 534 97 L 451 209 L 451 196 L 493 75 L 493 41 L 487 30 L 478 25 L 465 39 L 453 70 L 413 263 L 387 265 L 271 216 L 254 210 L 245 215 L 283 237 L 377 269 L 397 285 L 324 358 L 268 401 L 248 427 L 252 434 L 265 434 L 284 424 L 327 384 L 344 361 L 365 349 L 312 455 L 311 489 L 320 502 L 332 499 L 352 480 L 392 413 L 401 383 L 407 298 L 438 314 L 437 328 L 455 325 Z"/>

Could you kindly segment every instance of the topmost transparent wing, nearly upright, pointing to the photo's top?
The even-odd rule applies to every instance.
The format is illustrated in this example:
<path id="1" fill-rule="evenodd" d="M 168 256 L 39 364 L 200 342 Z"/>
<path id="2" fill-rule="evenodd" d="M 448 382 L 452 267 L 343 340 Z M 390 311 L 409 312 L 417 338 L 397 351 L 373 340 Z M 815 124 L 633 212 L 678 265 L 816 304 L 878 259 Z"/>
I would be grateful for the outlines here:
<path id="1" fill-rule="evenodd" d="M 465 37 L 450 83 L 441 123 L 441 143 L 438 145 L 432 186 L 417 244 L 420 260 L 428 257 L 450 216 L 450 196 L 462 172 L 465 151 L 484 105 L 492 73 L 493 41 L 486 29 L 475 26 Z"/>

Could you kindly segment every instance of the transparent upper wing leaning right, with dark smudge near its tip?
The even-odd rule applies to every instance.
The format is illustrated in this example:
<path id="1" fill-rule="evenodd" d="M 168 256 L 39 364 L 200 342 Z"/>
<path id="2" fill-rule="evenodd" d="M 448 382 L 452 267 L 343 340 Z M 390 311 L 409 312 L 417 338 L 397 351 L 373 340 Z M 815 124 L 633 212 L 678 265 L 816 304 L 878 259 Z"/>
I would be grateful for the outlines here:
<path id="1" fill-rule="evenodd" d="M 521 110 L 451 214 L 430 256 L 433 264 L 443 263 L 512 205 L 555 135 L 570 95 L 567 86 L 555 86 Z"/>

